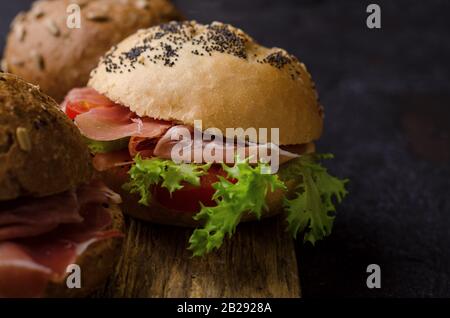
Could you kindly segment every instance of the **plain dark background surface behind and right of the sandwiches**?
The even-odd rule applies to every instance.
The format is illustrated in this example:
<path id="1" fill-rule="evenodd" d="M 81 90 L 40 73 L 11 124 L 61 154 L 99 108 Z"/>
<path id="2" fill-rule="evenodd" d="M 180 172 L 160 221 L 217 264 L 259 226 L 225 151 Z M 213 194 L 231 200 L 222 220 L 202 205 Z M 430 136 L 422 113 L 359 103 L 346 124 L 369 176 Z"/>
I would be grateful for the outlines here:
<path id="1" fill-rule="evenodd" d="M 31 2 L 1 2 L 1 39 Z M 371 2 L 379 30 L 366 27 Z M 371 2 L 175 1 L 190 19 L 287 49 L 316 81 L 318 149 L 351 183 L 331 237 L 298 246 L 303 295 L 450 297 L 450 2 Z M 372 263 L 381 289 L 366 287 Z"/>

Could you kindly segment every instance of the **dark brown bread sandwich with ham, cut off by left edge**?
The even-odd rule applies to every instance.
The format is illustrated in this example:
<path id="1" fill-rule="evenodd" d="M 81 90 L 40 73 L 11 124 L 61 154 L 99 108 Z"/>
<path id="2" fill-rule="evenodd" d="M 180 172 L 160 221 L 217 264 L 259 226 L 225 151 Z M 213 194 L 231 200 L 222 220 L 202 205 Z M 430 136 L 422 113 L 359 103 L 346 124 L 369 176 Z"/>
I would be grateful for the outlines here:
<path id="1" fill-rule="evenodd" d="M 103 286 L 124 223 L 120 196 L 92 170 L 58 104 L 0 73 L 0 297 L 84 297 Z"/>

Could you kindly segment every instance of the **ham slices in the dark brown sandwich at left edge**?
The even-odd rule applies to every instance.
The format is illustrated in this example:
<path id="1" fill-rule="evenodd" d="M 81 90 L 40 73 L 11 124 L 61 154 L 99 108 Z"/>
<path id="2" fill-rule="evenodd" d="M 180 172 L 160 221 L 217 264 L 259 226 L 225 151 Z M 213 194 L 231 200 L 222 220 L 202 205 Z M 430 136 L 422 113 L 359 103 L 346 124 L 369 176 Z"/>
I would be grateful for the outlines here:
<path id="1" fill-rule="evenodd" d="M 3 207 L 0 217 L 3 213 L 7 217 L 3 218 L 0 231 L 20 226 L 32 231 L 33 226 L 40 227 L 36 223 L 38 217 L 32 216 L 32 212 L 52 224 L 52 228 L 39 235 L 26 237 L 23 233 L 15 235 L 9 231 L 8 239 L 0 239 L 0 297 L 41 296 L 50 281 L 64 280 L 67 266 L 75 263 L 91 244 L 121 236 L 117 231 L 105 231 L 111 224 L 108 204 L 119 203 L 120 196 L 101 183 L 93 183 L 69 193 L 34 199 L 42 202 L 28 200 L 30 206 L 39 206 L 42 210 L 27 210 L 22 204 L 18 204 L 19 207 L 10 206 L 9 209 Z M 61 203 L 63 198 L 69 197 L 75 201 L 68 202 L 70 207 L 78 208 L 76 211 L 59 208 L 63 215 L 57 217 L 58 209 L 51 201 Z M 18 215 L 18 211 L 24 212 L 24 215 Z M 71 215 L 71 218 L 64 214 Z M 31 221 L 25 215 L 30 216 Z"/>

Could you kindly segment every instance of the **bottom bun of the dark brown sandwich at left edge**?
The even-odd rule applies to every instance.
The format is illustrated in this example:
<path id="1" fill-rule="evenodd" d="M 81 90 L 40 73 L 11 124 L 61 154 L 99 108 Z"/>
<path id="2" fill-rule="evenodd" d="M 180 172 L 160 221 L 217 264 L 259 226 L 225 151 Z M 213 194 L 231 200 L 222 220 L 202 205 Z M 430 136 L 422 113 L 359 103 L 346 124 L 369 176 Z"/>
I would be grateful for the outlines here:
<path id="1" fill-rule="evenodd" d="M 111 204 L 109 210 L 112 220 L 109 229 L 123 231 L 124 219 L 119 206 Z M 120 256 L 121 246 L 122 239 L 117 237 L 93 243 L 75 262 L 81 268 L 81 288 L 69 289 L 65 280 L 60 283 L 50 282 L 44 297 L 83 298 L 93 294 L 103 287 L 112 274 Z"/>

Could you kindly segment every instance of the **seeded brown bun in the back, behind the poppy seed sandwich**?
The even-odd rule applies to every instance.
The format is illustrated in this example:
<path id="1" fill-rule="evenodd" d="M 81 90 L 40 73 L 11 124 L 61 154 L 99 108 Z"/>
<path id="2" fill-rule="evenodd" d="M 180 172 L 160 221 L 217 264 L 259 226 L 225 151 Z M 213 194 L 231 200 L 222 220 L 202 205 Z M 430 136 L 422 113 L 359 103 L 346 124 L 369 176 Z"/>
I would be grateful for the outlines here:
<path id="1" fill-rule="evenodd" d="M 81 28 L 70 29 L 68 6 L 81 8 Z M 181 19 L 169 0 L 41 0 L 14 20 L 4 67 L 60 102 L 111 46 L 141 28 Z"/>

